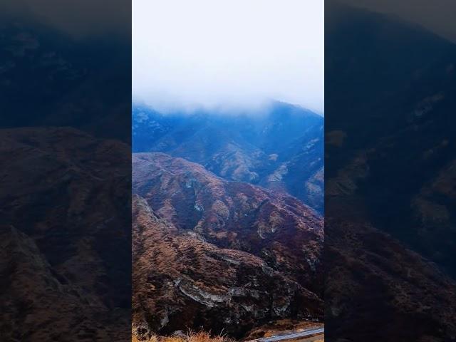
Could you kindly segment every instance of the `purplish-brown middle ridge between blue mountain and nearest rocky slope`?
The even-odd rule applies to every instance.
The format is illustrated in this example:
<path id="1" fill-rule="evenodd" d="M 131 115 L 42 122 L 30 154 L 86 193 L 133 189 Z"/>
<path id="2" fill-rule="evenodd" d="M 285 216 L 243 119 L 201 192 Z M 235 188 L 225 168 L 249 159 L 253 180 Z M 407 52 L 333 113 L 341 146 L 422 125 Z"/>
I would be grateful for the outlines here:
<path id="1" fill-rule="evenodd" d="M 133 155 L 133 193 L 177 229 L 257 255 L 321 291 L 316 279 L 323 219 L 294 197 L 227 182 L 201 165 L 162 153 Z"/>

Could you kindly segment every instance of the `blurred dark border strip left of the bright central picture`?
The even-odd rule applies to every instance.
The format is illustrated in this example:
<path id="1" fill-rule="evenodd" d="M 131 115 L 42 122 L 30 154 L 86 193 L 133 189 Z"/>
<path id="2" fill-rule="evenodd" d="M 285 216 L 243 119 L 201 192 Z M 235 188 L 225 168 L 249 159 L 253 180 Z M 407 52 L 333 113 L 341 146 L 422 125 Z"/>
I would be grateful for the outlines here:
<path id="1" fill-rule="evenodd" d="M 131 1 L 0 6 L 0 340 L 131 339 Z"/>

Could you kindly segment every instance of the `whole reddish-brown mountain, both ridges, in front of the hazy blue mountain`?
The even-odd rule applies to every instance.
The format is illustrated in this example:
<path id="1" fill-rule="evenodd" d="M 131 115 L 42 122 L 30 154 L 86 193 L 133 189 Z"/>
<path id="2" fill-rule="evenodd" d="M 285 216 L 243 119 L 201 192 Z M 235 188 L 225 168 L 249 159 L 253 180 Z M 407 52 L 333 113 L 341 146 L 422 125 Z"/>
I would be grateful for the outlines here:
<path id="1" fill-rule="evenodd" d="M 133 154 L 133 324 L 240 338 L 323 318 L 323 219 L 298 199 L 223 180 L 163 153 Z"/>

